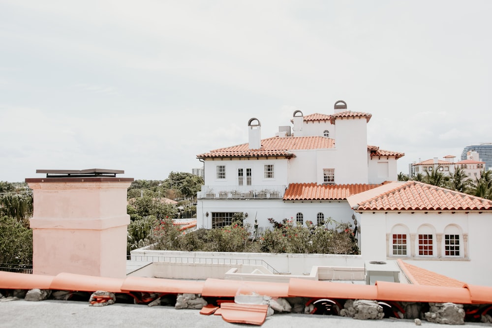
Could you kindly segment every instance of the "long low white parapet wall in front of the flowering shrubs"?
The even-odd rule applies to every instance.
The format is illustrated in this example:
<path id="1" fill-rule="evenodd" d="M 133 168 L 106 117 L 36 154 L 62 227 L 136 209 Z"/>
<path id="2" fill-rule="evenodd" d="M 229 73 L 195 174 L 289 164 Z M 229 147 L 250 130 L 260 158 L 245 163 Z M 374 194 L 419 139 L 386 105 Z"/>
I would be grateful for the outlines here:
<path id="1" fill-rule="evenodd" d="M 256 265 L 264 266 L 272 273 L 292 275 L 308 275 L 311 273 L 311 269 L 316 266 L 364 267 L 364 261 L 360 255 L 185 252 L 149 250 L 145 247 L 133 250 L 130 254 L 132 261 L 220 264 L 229 266 L 229 268 L 231 268 L 230 265 L 232 267 L 237 267 L 238 265 Z"/>

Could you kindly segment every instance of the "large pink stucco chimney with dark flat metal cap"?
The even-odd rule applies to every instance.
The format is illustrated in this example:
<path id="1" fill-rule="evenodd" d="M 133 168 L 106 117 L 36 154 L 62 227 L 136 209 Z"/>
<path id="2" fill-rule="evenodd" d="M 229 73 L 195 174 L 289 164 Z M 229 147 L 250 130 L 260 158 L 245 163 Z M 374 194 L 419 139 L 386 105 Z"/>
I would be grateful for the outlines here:
<path id="1" fill-rule="evenodd" d="M 46 178 L 26 179 L 33 191 L 32 268 L 126 276 L 126 190 L 133 178 L 121 170 L 37 170 Z"/>

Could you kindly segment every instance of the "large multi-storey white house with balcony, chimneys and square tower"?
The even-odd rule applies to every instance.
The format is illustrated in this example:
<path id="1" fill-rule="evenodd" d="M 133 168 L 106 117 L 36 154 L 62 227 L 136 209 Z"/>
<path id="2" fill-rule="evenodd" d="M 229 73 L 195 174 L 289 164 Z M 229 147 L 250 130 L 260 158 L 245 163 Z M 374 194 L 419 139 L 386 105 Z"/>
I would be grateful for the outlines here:
<path id="1" fill-rule="evenodd" d="M 295 111 L 292 133 L 291 126 L 280 126 L 267 139 L 261 139 L 260 121 L 250 119 L 248 143 L 197 155 L 205 169 L 197 227 L 228 225 L 238 212 L 250 224 L 256 218 L 260 232 L 271 227 L 268 218 L 352 222 L 347 197 L 396 180 L 404 155 L 368 146 L 370 118 L 338 101 L 331 115 Z"/>

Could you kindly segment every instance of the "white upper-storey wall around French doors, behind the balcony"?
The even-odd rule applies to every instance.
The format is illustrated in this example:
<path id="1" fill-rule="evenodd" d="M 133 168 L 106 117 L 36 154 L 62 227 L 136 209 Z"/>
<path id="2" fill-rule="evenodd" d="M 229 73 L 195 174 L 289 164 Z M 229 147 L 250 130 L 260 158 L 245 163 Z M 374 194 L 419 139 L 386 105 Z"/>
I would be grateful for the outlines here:
<path id="1" fill-rule="evenodd" d="M 265 179 L 264 165 L 274 164 L 273 179 Z M 287 185 L 287 159 L 272 157 L 271 159 L 234 158 L 205 161 L 205 185 L 207 186 L 234 186 L 238 185 L 238 169 L 251 169 L 251 185 Z M 225 165 L 225 179 L 217 179 L 216 166 Z M 246 181 L 246 170 L 244 171 Z M 245 182 L 246 184 L 246 182 Z"/>

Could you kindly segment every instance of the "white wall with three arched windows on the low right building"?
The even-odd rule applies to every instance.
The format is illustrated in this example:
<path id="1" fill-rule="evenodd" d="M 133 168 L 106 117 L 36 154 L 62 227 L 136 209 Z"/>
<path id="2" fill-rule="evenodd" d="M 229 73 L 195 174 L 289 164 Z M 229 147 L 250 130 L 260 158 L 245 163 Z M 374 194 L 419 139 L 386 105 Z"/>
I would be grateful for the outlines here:
<path id="1" fill-rule="evenodd" d="M 364 260 L 401 258 L 403 261 L 425 268 L 466 283 L 492 286 L 490 273 L 492 262 L 489 259 L 491 241 L 489 231 L 492 225 L 491 212 L 364 212 L 361 217 L 361 252 Z M 407 236 L 407 256 L 392 256 L 392 229 L 396 225 L 408 228 L 408 234 L 415 234 L 414 242 Z M 433 256 L 419 256 L 418 229 L 429 225 L 434 230 Z M 444 255 L 444 229 L 454 225 L 461 230 L 460 257 Z M 442 234 L 442 235 L 441 235 Z M 438 257 L 437 235 L 441 235 L 441 256 Z M 387 238 L 388 236 L 388 238 Z M 464 257 L 466 252 L 467 257 Z M 390 256 L 387 256 L 387 255 Z"/>

